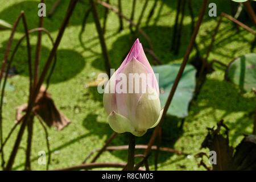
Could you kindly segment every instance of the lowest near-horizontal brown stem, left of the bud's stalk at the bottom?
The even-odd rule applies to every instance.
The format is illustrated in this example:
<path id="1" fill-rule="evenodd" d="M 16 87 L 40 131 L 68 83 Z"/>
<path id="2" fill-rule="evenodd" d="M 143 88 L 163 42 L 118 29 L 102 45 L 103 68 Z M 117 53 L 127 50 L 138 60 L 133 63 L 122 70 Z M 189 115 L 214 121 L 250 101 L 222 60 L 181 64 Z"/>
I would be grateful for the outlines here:
<path id="1" fill-rule="evenodd" d="M 81 169 L 93 169 L 93 168 L 104 168 L 104 167 L 114 167 L 114 168 L 123 168 L 126 166 L 126 163 L 90 163 L 90 164 L 81 164 L 78 166 L 72 166 L 62 169 L 55 169 L 54 171 L 74 171 Z M 143 168 L 139 168 L 139 171 L 144 171 Z"/>

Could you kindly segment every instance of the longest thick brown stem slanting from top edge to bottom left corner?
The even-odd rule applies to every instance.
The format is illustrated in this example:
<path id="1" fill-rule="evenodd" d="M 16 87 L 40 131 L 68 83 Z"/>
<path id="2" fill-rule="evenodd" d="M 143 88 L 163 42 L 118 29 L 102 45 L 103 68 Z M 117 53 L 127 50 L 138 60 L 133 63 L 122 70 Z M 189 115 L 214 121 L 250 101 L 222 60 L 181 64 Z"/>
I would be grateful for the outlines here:
<path id="1" fill-rule="evenodd" d="M 52 50 L 51 50 L 51 52 L 49 54 L 48 60 L 46 62 L 46 65 L 44 66 L 44 69 L 42 71 L 42 75 L 39 78 L 38 84 L 36 85 L 36 88 L 35 88 L 34 92 L 32 93 L 31 100 L 28 103 L 27 112 L 26 112 L 26 114 L 24 116 L 24 121 L 22 122 L 22 125 L 20 126 L 20 130 L 19 130 L 18 136 L 16 138 L 13 151 L 11 152 L 9 161 L 7 163 L 7 166 L 6 166 L 6 170 L 11 170 L 12 167 L 13 167 L 15 156 L 16 156 L 16 153 L 18 151 L 19 144 L 20 144 L 20 141 L 22 139 L 22 135 L 24 133 L 24 129 L 25 129 L 26 125 L 27 125 L 28 118 L 30 117 L 31 112 L 32 112 L 32 108 L 33 108 L 33 106 L 35 104 L 36 97 L 38 96 L 39 89 L 41 88 L 41 86 L 43 84 L 43 81 L 44 81 L 44 78 L 47 75 L 47 72 L 48 72 L 48 69 L 49 69 L 49 67 L 50 67 L 50 65 L 52 63 L 53 57 L 55 57 L 55 53 L 57 51 L 57 47 L 59 46 L 60 40 L 61 40 L 61 38 L 63 36 L 63 33 L 64 33 L 64 30 L 65 30 L 65 27 L 67 27 L 69 18 L 71 17 L 71 15 L 73 13 L 73 9 L 75 8 L 76 3 L 77 3 L 77 0 L 73 0 L 73 1 L 71 1 L 69 3 L 69 8 L 68 8 L 67 14 L 65 15 L 65 18 L 63 20 L 63 24 L 61 25 L 61 28 L 60 28 L 59 34 L 57 35 L 55 44 L 54 44 L 54 46 L 53 46 L 53 48 L 52 48 Z"/>

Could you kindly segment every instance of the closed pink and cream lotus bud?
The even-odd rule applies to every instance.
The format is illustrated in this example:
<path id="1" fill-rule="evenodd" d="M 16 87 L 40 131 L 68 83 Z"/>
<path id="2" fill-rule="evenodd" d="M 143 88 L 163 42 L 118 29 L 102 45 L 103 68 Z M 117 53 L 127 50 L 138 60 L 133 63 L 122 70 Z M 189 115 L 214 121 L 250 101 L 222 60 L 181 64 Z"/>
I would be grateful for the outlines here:
<path id="1" fill-rule="evenodd" d="M 103 100 L 108 123 L 117 133 L 141 137 L 158 125 L 163 112 L 158 80 L 139 39 L 106 84 Z"/>

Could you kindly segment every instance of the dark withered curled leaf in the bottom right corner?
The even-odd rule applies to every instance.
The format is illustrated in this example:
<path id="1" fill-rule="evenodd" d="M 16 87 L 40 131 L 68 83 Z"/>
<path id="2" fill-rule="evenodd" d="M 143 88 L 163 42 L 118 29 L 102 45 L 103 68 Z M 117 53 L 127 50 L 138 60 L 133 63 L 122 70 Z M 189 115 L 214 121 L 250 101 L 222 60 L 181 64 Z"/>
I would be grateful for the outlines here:
<path id="1" fill-rule="evenodd" d="M 226 137 L 220 134 L 221 126 L 226 129 Z M 256 135 L 245 136 L 234 153 L 229 146 L 228 127 L 223 121 L 218 123 L 216 130 L 208 129 L 201 147 L 216 151 L 217 164 L 213 164 L 213 170 L 256 170 Z"/>

